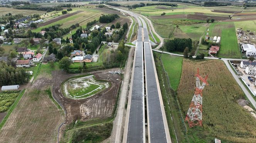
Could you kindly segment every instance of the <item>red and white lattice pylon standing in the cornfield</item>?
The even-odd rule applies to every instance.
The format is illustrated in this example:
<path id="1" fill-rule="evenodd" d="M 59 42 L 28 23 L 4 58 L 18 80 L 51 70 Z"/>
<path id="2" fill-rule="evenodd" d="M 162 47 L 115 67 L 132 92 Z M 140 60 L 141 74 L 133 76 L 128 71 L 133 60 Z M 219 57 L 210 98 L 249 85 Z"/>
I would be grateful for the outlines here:
<path id="1" fill-rule="evenodd" d="M 202 126 L 202 91 L 205 87 L 205 85 L 209 85 L 207 80 L 208 75 L 203 78 L 199 74 L 199 69 L 197 68 L 197 74 L 196 76 L 196 88 L 195 93 L 192 98 L 192 102 L 189 106 L 189 110 L 186 115 L 186 121 L 189 122 L 189 127 L 194 126 Z M 200 84 L 200 81 L 202 81 L 202 85 Z"/>

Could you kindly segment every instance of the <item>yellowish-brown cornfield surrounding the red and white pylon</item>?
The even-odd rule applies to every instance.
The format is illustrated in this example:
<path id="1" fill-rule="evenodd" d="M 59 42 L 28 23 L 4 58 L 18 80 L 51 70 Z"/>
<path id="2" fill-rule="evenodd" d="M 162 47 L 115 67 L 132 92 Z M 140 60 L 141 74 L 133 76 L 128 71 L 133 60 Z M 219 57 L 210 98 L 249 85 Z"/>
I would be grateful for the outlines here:
<path id="1" fill-rule="evenodd" d="M 184 116 L 194 94 L 197 67 L 202 77 L 209 74 L 202 95 L 203 133 L 231 142 L 256 143 L 256 119 L 236 102 L 245 95 L 222 61 L 183 60 L 177 94 Z"/>

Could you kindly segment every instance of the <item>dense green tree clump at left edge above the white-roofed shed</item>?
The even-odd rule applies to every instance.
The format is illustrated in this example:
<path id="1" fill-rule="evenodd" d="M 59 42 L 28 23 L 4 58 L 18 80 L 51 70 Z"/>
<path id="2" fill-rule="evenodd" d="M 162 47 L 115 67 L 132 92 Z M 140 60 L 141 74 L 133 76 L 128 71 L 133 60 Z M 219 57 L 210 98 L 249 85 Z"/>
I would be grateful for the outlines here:
<path id="1" fill-rule="evenodd" d="M 0 86 L 24 84 L 29 81 L 29 74 L 24 68 L 14 68 L 5 62 L 0 62 Z"/>

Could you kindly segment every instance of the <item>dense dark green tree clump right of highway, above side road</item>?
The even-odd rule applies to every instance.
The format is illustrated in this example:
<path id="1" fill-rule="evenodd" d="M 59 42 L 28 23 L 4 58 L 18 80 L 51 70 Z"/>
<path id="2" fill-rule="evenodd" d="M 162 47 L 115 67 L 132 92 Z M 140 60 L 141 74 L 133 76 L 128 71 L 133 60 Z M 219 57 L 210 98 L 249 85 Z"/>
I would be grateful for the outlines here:
<path id="1" fill-rule="evenodd" d="M 179 51 L 183 52 L 186 47 L 192 49 L 192 40 L 190 38 L 174 38 L 167 40 L 163 46 L 167 51 L 173 52 L 173 51 Z"/>

